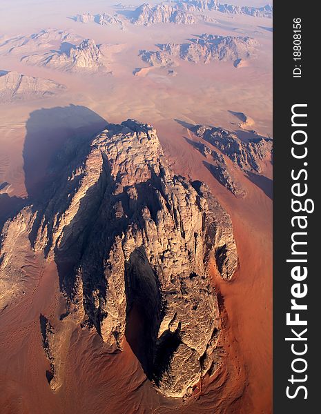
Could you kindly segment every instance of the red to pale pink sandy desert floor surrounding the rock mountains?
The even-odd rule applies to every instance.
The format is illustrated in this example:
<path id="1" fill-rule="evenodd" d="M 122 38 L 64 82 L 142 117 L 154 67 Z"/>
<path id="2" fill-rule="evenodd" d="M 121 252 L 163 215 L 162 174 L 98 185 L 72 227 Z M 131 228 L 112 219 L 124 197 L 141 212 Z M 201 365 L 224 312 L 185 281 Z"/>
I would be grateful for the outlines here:
<path id="1" fill-rule="evenodd" d="M 254 0 L 252 3 L 264 4 Z M 271 19 L 232 18 L 212 12 L 217 23 L 128 25 L 120 31 L 68 18 L 80 12 L 113 10 L 106 1 L 35 1 L 30 3 L 30 12 L 23 1 L 3 1 L 0 7 L 4 12 L 0 35 L 64 28 L 93 38 L 97 44 L 118 45 L 110 57 L 113 75 L 71 75 L 27 66 L 17 56 L 1 56 L 0 70 L 52 79 L 68 90 L 48 99 L 0 103 L 0 184 L 10 184 L 7 192 L 0 194 L 0 223 L 41 193 L 46 182 L 54 178 L 48 165 L 68 137 L 94 135 L 107 122 L 134 118 L 155 126 L 175 172 L 201 179 L 211 187 L 231 215 L 240 256 L 240 266 L 231 282 L 224 282 L 213 271 L 224 328 L 224 365 L 182 402 L 166 400 L 156 393 L 130 346 L 121 354 L 108 355 L 97 335 L 81 329 L 70 333 L 64 388 L 52 393 L 45 375 L 48 360 L 41 348 L 39 313 L 59 318 L 64 301 L 55 266 L 30 255 L 26 265 L 30 288 L 20 302 L 8 306 L 0 315 L 2 412 L 270 414 L 271 162 L 266 162 L 261 177 L 253 181 L 240 173 L 238 178 L 248 195 L 237 199 L 215 180 L 204 165 L 204 157 L 188 143 L 196 138 L 186 126 L 221 126 L 246 138 L 246 131 L 240 130 L 237 119 L 228 112 L 240 111 L 254 119 L 253 129 L 260 135 L 272 135 L 272 33 L 266 30 L 271 28 Z M 24 19 L 27 12 L 28 21 Z M 244 68 L 236 69 L 231 62 L 182 61 L 175 68 L 175 77 L 168 76 L 164 68 L 133 75 L 135 68 L 148 66 L 138 56 L 139 49 L 156 50 L 156 43 L 182 43 L 205 32 L 249 35 L 259 41 L 260 48 Z M 139 315 L 132 317 L 139 331 Z"/>

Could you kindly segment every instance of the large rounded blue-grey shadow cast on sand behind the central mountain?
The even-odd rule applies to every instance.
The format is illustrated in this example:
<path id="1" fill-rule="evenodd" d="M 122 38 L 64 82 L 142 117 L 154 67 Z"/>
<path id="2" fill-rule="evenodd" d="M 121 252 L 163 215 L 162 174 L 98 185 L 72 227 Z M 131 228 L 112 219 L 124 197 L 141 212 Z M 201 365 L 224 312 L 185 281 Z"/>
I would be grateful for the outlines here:
<path id="1" fill-rule="evenodd" d="M 31 202 L 55 179 L 55 157 L 70 139 L 91 139 L 107 121 L 85 106 L 65 106 L 31 112 L 23 147 L 25 186 Z"/>

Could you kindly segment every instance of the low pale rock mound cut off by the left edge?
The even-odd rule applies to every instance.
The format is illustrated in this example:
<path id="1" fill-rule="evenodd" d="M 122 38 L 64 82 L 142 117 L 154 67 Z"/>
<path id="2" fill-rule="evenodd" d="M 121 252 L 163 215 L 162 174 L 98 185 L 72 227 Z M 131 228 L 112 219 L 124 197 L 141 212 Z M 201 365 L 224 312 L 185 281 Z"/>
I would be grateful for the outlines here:
<path id="1" fill-rule="evenodd" d="M 50 79 L 0 70 L 0 103 L 51 97 L 65 89 L 66 86 Z"/>

